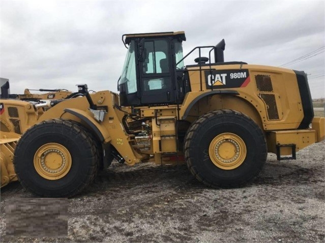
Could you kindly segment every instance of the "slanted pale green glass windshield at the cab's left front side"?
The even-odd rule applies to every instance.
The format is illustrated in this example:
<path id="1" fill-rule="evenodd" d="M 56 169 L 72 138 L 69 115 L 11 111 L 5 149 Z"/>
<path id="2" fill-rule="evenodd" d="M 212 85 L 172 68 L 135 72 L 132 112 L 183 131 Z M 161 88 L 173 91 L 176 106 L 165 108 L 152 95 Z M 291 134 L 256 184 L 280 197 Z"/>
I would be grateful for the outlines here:
<path id="1" fill-rule="evenodd" d="M 135 53 L 134 41 L 131 41 L 127 56 L 124 61 L 123 71 L 120 84 L 127 83 L 127 93 L 135 93 L 136 88 L 136 73 L 135 73 Z"/>

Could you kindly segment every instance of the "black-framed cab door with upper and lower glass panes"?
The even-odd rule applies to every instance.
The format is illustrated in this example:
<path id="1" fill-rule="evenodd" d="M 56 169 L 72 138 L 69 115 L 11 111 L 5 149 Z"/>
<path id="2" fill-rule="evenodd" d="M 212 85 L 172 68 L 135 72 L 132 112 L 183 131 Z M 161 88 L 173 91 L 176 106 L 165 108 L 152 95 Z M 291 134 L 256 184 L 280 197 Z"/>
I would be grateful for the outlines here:
<path id="1" fill-rule="evenodd" d="M 164 105 L 175 102 L 169 40 L 145 40 L 139 64 L 141 104 Z"/>

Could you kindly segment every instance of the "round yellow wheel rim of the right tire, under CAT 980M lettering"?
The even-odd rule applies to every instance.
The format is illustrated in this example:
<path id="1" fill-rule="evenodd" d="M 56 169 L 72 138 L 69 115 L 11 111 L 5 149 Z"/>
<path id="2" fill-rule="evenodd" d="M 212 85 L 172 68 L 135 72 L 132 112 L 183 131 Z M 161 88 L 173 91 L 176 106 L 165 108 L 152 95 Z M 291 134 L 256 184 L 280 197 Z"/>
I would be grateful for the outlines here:
<path id="1" fill-rule="evenodd" d="M 246 158 L 246 145 L 241 137 L 226 132 L 217 135 L 210 143 L 211 161 L 221 169 L 239 167 Z"/>

